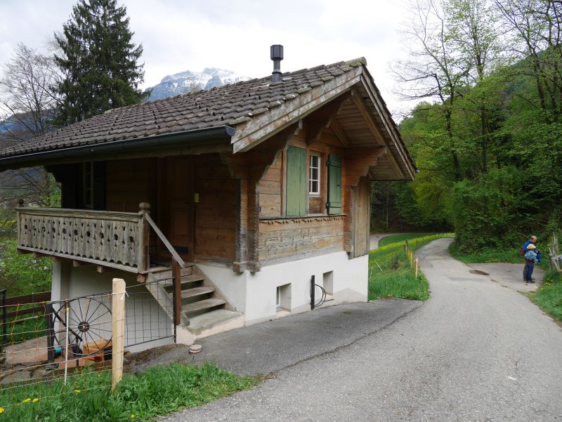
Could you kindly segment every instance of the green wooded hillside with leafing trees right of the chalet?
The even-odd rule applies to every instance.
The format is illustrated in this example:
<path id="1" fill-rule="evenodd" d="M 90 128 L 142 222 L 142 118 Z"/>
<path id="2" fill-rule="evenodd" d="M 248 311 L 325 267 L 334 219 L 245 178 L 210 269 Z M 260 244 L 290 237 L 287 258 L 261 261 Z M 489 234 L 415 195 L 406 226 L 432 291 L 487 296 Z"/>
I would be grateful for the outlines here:
<path id="1" fill-rule="evenodd" d="M 464 251 L 559 227 L 561 25 L 556 1 L 410 5 L 410 59 L 393 71 L 417 100 L 400 131 L 419 174 L 379 185 L 375 202 L 393 198 L 410 230 L 450 225 Z"/>

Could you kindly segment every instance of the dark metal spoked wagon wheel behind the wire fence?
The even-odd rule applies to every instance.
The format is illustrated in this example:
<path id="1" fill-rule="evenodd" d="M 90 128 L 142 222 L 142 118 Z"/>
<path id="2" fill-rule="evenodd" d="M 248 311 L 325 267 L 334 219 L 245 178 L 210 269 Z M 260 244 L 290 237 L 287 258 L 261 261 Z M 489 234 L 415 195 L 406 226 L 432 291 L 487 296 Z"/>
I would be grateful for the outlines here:
<path id="1" fill-rule="evenodd" d="M 68 345 L 75 357 L 98 355 L 111 343 L 111 310 L 102 301 L 91 298 L 75 298 L 53 302 L 53 319 L 60 322 L 54 340 L 65 347 L 66 309 L 68 308 Z M 88 350 L 84 351 L 84 345 Z"/>

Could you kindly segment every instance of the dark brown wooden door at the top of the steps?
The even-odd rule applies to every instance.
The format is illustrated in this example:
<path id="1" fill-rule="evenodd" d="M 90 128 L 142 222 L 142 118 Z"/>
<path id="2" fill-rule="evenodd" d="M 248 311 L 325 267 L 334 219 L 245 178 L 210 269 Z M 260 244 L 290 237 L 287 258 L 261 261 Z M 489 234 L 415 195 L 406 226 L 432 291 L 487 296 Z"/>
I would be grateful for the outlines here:
<path id="1" fill-rule="evenodd" d="M 166 157 L 160 172 L 162 231 L 180 256 L 193 259 L 195 171 L 192 157 Z M 166 251 L 159 251 L 159 255 Z M 169 253 L 168 253 L 169 254 Z"/>

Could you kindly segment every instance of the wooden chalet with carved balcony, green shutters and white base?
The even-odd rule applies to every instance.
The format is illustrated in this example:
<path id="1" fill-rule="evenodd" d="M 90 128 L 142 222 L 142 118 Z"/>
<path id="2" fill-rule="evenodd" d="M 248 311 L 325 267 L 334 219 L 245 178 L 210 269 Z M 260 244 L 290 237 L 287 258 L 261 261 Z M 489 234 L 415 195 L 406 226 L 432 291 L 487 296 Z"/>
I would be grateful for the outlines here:
<path id="1" fill-rule="evenodd" d="M 311 276 L 333 303 L 366 301 L 370 183 L 415 171 L 363 58 L 111 110 L 0 152 L 1 171 L 29 166 L 62 189 L 60 209 L 18 209 L 18 250 L 53 258 L 53 300 L 174 276 L 186 343 L 309 310 Z"/>

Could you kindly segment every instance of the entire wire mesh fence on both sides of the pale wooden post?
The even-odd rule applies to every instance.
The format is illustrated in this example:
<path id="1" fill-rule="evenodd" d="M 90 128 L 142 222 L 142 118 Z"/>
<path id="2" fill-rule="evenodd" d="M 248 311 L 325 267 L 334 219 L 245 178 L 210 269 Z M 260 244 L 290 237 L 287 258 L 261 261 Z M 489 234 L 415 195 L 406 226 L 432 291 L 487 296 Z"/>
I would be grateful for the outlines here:
<path id="1" fill-rule="evenodd" d="M 112 291 L 64 301 L 11 303 L 5 298 L 0 326 L 0 409 L 43 400 L 53 392 L 46 385 L 60 383 L 64 387 L 60 394 L 68 393 L 68 388 L 72 393 L 74 387 L 77 391 L 110 389 L 114 345 L 123 352 L 174 338 L 169 284 L 162 280 L 127 286 L 117 298 L 124 306 L 120 317 L 114 312 Z M 123 325 L 117 343 L 116 318 Z M 94 372 L 96 382 L 89 381 L 85 387 L 84 371 L 86 375 Z"/>

